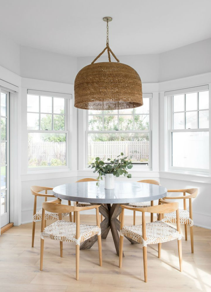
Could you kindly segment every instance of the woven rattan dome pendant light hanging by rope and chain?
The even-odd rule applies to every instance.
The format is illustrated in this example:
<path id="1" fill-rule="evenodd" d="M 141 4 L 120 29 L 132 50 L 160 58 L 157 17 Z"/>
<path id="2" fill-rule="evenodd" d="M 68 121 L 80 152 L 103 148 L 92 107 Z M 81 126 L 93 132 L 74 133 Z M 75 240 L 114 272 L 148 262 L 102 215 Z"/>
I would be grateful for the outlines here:
<path id="1" fill-rule="evenodd" d="M 75 107 L 79 109 L 112 110 L 130 109 L 143 105 L 142 82 L 138 73 L 130 66 L 120 63 L 109 47 L 107 22 L 106 48 L 82 68 L 75 78 Z M 109 62 L 94 63 L 105 51 Z M 110 53 L 117 62 L 111 62 Z"/>

